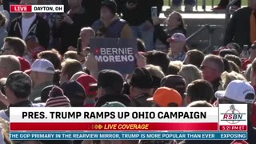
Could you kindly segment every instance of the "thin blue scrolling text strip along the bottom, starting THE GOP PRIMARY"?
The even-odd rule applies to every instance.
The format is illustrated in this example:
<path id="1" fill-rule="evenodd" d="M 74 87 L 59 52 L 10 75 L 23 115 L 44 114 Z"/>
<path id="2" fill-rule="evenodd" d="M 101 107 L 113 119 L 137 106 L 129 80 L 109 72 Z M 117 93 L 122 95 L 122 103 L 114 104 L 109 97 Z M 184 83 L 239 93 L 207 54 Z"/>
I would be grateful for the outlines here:
<path id="1" fill-rule="evenodd" d="M 246 140 L 247 132 L 10 132 L 11 140 Z"/>

